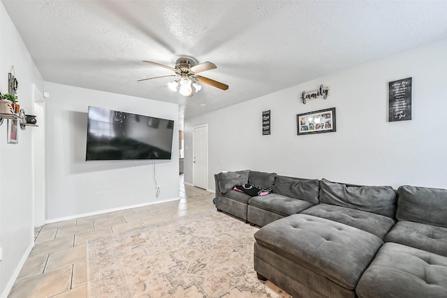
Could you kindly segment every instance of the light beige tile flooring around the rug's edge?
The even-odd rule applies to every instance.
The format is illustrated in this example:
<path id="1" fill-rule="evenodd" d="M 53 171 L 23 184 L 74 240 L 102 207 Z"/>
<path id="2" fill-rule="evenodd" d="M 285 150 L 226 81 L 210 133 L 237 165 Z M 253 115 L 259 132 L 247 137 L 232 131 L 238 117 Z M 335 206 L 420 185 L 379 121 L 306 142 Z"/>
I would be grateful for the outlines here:
<path id="1" fill-rule="evenodd" d="M 86 297 L 85 240 L 151 223 L 170 221 L 214 209 L 210 193 L 185 186 L 180 176 L 180 200 L 98 214 L 38 227 L 29 253 L 8 298 Z"/>

